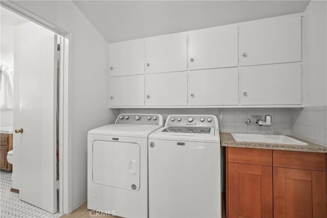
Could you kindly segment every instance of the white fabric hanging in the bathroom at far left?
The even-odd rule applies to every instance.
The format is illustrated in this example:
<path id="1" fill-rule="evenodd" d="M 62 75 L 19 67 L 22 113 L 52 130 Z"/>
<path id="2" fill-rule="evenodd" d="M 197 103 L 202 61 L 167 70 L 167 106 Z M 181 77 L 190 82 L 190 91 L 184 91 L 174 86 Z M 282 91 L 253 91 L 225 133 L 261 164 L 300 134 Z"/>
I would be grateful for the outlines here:
<path id="1" fill-rule="evenodd" d="M 14 108 L 14 80 L 13 71 L 6 66 L 2 66 L 0 85 L 0 108 Z"/>

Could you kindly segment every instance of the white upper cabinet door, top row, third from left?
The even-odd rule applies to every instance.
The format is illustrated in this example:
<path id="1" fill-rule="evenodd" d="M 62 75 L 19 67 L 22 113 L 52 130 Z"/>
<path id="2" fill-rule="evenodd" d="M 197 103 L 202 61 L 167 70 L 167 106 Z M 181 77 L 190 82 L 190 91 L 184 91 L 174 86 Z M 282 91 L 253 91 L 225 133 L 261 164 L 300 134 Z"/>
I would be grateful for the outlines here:
<path id="1" fill-rule="evenodd" d="M 189 34 L 189 69 L 238 65 L 238 27 L 225 26 Z"/>

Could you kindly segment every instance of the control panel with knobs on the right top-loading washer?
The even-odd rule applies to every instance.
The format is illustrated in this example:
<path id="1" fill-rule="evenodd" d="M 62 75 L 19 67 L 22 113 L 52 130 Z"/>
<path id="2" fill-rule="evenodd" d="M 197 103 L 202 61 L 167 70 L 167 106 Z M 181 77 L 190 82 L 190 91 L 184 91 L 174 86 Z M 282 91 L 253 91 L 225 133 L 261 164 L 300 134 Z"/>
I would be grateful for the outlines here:
<path id="1" fill-rule="evenodd" d="M 169 115 L 165 126 L 218 127 L 215 115 Z"/>

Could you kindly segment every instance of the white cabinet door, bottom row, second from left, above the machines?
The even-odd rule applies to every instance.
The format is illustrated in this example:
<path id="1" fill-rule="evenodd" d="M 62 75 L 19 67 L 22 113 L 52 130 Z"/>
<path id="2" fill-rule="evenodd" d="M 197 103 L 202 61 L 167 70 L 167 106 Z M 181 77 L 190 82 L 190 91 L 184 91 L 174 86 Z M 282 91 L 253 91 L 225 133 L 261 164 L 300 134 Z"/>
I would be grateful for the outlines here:
<path id="1" fill-rule="evenodd" d="M 188 105 L 186 72 L 169 72 L 146 76 L 147 106 Z"/>

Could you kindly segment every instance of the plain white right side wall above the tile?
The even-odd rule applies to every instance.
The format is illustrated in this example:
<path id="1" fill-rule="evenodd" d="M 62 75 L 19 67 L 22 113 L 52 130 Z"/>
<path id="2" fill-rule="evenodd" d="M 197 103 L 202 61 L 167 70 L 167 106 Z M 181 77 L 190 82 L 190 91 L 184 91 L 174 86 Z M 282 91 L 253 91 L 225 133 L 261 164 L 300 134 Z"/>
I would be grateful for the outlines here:
<path id="1" fill-rule="evenodd" d="M 303 105 L 327 105 L 326 1 L 311 1 L 303 21 Z"/>

